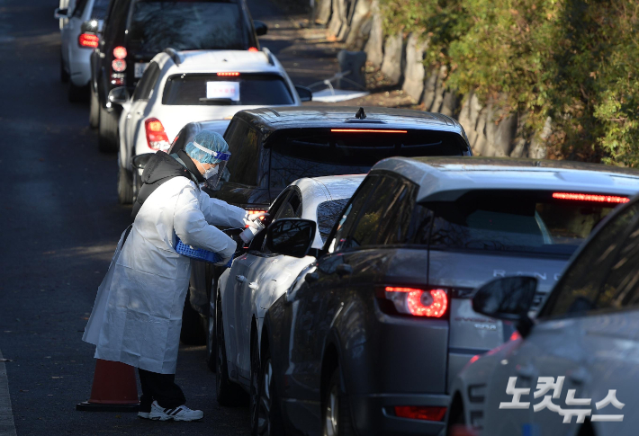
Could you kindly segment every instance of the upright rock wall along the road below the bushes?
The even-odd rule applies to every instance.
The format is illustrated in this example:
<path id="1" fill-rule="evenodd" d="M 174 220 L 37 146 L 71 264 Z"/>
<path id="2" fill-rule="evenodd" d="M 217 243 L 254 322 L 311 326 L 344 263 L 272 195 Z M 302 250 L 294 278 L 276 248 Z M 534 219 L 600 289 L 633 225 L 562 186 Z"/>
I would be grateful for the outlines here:
<path id="1" fill-rule="evenodd" d="M 384 35 L 378 0 L 317 0 L 315 22 L 326 25 L 331 37 L 351 50 L 364 50 L 367 60 L 381 68 L 394 84 L 422 103 L 426 111 L 451 116 L 464 126 L 473 152 L 480 156 L 544 158 L 551 120 L 541 132 L 524 128 L 525 117 L 505 113 L 500 101 L 482 105 L 477 95 L 460 95 L 446 87 L 446 67 L 428 70 L 428 43 L 419 34 Z"/>

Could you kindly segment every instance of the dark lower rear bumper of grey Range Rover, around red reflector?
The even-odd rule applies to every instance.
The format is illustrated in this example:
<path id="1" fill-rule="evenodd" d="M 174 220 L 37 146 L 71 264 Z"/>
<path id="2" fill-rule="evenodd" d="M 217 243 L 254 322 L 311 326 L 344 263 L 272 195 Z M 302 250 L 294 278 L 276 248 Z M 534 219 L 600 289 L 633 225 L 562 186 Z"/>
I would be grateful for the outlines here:
<path id="1" fill-rule="evenodd" d="M 444 435 L 446 423 L 420 421 L 395 416 L 396 405 L 433 405 L 447 407 L 449 396 L 435 394 L 381 394 L 350 396 L 356 431 L 362 435 Z"/>

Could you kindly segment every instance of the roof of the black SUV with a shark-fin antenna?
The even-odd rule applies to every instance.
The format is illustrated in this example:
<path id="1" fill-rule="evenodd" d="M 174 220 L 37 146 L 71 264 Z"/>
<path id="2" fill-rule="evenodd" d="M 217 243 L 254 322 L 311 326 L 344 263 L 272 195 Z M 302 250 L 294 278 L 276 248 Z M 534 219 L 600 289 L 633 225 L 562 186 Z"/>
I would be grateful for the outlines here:
<path id="1" fill-rule="evenodd" d="M 364 109 L 365 118 L 356 118 Z M 235 115 L 262 131 L 298 128 L 350 128 L 350 129 L 431 129 L 455 131 L 464 136 L 461 124 L 441 113 L 411 111 L 407 109 L 356 106 L 302 106 L 258 108 L 238 111 Z"/>

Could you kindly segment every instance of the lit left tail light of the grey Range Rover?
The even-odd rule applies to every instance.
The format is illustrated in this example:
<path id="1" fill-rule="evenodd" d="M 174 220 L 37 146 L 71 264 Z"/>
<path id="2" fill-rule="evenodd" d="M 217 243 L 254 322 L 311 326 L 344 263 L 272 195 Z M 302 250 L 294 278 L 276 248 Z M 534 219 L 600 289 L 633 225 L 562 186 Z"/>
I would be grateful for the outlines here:
<path id="1" fill-rule="evenodd" d="M 387 286 L 384 297 L 395 305 L 401 314 L 439 318 L 448 307 L 448 296 L 444 289 L 415 289 Z"/>

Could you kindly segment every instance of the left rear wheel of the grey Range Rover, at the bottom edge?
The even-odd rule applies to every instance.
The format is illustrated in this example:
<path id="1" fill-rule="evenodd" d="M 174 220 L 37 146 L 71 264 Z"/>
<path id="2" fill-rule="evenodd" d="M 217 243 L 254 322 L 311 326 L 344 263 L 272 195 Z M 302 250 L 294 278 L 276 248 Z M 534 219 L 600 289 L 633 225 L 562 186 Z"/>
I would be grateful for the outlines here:
<path id="1" fill-rule="evenodd" d="M 323 436 L 354 436 L 356 434 L 350 404 L 339 381 L 339 368 L 336 368 L 329 378 L 321 408 Z"/>

